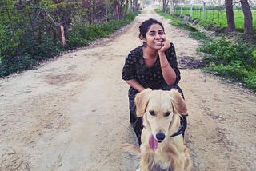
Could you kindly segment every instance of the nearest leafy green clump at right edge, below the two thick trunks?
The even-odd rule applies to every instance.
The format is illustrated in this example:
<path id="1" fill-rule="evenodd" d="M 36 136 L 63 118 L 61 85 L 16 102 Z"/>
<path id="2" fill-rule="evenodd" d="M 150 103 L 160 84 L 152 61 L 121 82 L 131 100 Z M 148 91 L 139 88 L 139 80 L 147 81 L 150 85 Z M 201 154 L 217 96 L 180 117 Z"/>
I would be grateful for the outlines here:
<path id="1" fill-rule="evenodd" d="M 207 71 L 234 82 L 242 82 L 256 91 L 256 46 L 241 39 L 230 42 L 220 38 L 212 39 L 198 50 L 206 53 L 203 60 L 208 64 Z"/>

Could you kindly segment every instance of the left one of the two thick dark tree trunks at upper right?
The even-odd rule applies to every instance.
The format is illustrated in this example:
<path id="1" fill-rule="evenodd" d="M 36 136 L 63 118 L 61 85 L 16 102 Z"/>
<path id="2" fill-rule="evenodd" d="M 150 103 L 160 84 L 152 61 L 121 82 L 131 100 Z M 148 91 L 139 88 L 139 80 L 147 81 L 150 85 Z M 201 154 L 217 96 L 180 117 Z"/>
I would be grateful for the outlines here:
<path id="1" fill-rule="evenodd" d="M 226 8 L 226 21 L 227 27 L 229 32 L 235 31 L 234 25 L 234 11 L 233 11 L 233 4 L 232 0 L 225 0 L 225 8 Z"/>

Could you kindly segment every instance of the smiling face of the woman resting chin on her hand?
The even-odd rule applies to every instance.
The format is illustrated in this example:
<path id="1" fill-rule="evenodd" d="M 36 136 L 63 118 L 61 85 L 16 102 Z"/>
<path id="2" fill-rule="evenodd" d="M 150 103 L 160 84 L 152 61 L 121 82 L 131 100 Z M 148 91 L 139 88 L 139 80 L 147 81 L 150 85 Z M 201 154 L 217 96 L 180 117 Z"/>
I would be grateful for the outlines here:
<path id="1" fill-rule="evenodd" d="M 151 25 L 149 30 L 146 32 L 146 38 L 143 38 L 143 41 L 146 42 L 146 46 L 154 50 L 161 49 L 162 42 L 165 40 L 166 34 L 162 29 L 162 26 L 158 24 Z"/>

